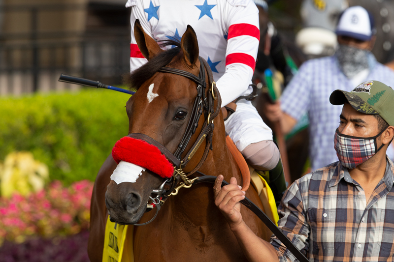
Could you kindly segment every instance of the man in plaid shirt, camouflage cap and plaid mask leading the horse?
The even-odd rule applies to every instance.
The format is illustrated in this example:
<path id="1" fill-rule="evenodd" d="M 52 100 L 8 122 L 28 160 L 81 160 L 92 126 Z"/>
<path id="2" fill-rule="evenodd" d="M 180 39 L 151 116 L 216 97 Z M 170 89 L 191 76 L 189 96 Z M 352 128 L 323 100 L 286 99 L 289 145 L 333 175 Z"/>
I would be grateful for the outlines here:
<path id="1" fill-rule="evenodd" d="M 342 105 L 334 135 L 338 162 L 296 180 L 279 206 L 279 228 L 312 262 L 393 261 L 394 164 L 386 151 L 394 137 L 394 90 L 367 81 L 353 91 L 335 90 Z M 242 220 L 245 192 L 236 179 L 214 185 L 215 204 L 249 261 L 296 261 L 275 236 L 268 243 Z"/>

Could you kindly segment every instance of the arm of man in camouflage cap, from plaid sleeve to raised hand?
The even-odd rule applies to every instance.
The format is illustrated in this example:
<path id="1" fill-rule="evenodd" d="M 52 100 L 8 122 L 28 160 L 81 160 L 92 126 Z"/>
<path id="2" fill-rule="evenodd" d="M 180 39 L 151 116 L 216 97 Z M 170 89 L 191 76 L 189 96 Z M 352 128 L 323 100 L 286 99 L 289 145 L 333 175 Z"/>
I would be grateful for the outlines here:
<path id="1" fill-rule="evenodd" d="M 306 255 L 309 250 L 310 226 L 307 222 L 308 188 L 311 174 L 296 180 L 286 191 L 278 208 L 278 227 Z M 235 234 L 239 245 L 249 261 L 294 262 L 296 257 L 275 236 L 268 243 L 253 233 L 242 220 L 239 201 L 245 192 L 231 177 L 230 185 L 221 188 L 223 175 L 215 181 L 213 192 L 218 206 Z M 276 253 L 276 254 L 275 254 Z"/>

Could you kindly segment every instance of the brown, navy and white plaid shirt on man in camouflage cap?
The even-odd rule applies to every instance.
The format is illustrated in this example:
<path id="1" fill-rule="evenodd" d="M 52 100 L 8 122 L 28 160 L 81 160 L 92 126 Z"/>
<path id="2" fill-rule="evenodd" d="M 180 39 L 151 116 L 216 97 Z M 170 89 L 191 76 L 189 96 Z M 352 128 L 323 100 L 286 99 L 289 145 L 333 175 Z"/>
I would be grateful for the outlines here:
<path id="1" fill-rule="evenodd" d="M 296 180 L 279 206 L 278 226 L 311 262 L 394 261 L 394 165 L 367 204 L 364 190 L 339 162 Z M 271 237 L 280 262 L 295 261 Z"/>

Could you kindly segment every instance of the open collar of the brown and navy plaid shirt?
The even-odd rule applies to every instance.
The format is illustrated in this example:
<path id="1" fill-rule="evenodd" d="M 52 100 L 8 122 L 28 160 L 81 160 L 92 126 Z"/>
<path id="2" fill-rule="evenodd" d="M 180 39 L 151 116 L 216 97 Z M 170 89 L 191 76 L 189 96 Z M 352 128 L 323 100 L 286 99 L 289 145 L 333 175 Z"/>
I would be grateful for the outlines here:
<path id="1" fill-rule="evenodd" d="M 385 182 L 387 191 L 390 191 L 391 188 L 393 187 L 394 184 L 394 164 L 393 162 L 388 158 L 386 155 L 386 171 L 385 175 L 383 176 L 383 180 Z M 332 174 L 332 177 L 328 183 L 328 187 L 333 187 L 336 186 L 341 179 L 344 179 L 348 183 L 353 183 L 355 185 L 360 186 L 360 184 L 353 180 L 353 178 L 350 176 L 349 171 L 346 167 L 342 166 L 341 162 L 338 161 L 338 164 Z M 379 182 L 379 186 L 383 184 L 382 182 Z"/>

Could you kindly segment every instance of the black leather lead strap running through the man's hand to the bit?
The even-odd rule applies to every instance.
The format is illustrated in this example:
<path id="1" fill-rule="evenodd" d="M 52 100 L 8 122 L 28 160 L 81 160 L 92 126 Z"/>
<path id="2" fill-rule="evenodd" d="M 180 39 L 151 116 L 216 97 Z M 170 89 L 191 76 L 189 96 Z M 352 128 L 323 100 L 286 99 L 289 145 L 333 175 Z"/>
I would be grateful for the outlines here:
<path id="1" fill-rule="evenodd" d="M 200 176 L 199 179 L 197 179 L 193 185 L 199 184 L 199 183 L 210 183 L 214 184 L 216 180 L 216 176 L 213 175 L 204 175 L 201 172 L 198 172 Z M 229 183 L 224 181 L 222 182 L 222 187 L 225 185 L 228 185 Z M 296 259 L 299 262 L 309 262 L 309 260 L 301 253 L 301 251 L 298 250 L 298 248 L 293 244 L 292 241 L 267 217 L 266 214 L 252 201 L 250 201 L 247 197 L 245 199 L 240 201 L 241 204 L 245 205 L 247 208 L 249 208 L 253 213 L 255 213 L 261 221 L 267 226 L 267 228 L 274 234 L 282 243 L 287 247 L 287 249 L 290 250 L 290 252 L 293 253 L 293 255 L 296 257 Z"/>

